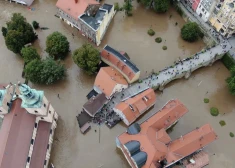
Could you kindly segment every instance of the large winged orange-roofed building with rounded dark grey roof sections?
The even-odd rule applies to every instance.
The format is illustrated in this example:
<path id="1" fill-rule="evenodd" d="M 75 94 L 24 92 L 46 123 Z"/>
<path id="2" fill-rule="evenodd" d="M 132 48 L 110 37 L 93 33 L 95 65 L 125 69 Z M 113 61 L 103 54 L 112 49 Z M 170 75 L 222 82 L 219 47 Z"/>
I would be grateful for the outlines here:
<path id="1" fill-rule="evenodd" d="M 171 100 L 143 123 L 135 123 L 119 135 L 116 138 L 117 147 L 122 150 L 130 166 L 171 167 L 217 139 L 214 130 L 206 124 L 172 141 L 166 130 L 187 112 L 180 101 Z"/>

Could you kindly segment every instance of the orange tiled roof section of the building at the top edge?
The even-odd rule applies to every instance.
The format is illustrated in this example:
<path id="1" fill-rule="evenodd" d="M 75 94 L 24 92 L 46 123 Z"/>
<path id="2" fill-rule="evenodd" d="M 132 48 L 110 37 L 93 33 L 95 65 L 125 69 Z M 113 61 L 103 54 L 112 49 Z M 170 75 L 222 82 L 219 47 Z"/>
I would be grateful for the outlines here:
<path id="1" fill-rule="evenodd" d="M 95 0 L 58 0 L 56 7 L 78 20 L 78 17 L 86 11 L 89 5 L 98 4 L 99 2 Z"/>

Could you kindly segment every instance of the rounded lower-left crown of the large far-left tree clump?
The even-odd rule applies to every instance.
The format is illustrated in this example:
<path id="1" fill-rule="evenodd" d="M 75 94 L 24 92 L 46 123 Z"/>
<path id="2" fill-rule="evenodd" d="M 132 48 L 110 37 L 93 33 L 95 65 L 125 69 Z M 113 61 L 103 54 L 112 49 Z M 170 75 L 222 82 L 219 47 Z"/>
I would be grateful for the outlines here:
<path id="1" fill-rule="evenodd" d="M 13 51 L 14 53 L 20 53 L 20 50 L 24 47 L 24 36 L 21 32 L 16 30 L 8 31 L 5 43 L 9 50 Z"/>

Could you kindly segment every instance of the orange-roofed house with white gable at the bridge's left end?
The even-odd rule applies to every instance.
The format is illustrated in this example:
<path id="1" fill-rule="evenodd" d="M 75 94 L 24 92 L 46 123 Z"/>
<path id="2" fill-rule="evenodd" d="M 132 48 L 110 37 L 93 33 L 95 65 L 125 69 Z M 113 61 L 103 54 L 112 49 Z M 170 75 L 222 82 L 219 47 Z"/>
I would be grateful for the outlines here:
<path id="1" fill-rule="evenodd" d="M 116 92 L 121 92 L 127 87 L 128 83 L 122 74 L 108 66 L 100 68 L 93 89 L 99 94 L 104 93 L 107 99 L 111 99 Z"/>

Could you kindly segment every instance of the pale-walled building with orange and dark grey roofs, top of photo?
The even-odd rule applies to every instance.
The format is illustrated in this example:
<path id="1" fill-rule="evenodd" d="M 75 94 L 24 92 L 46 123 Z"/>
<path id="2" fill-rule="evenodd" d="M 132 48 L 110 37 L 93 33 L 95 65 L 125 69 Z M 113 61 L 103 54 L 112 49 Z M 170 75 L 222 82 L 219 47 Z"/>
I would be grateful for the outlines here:
<path id="1" fill-rule="evenodd" d="M 58 0 L 56 7 L 60 19 L 77 28 L 97 46 L 116 12 L 114 5 L 101 6 L 95 0 Z"/>

